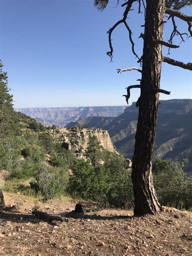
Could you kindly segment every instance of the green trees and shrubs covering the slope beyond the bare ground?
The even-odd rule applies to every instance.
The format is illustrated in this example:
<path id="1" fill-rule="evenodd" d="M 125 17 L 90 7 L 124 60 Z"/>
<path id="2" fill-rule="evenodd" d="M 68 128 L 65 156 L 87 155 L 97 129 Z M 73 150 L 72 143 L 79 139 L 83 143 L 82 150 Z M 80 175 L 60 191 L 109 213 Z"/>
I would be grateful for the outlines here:
<path id="1" fill-rule="evenodd" d="M 13 110 L 7 75 L 2 66 L 0 74 L 1 188 L 42 201 L 69 194 L 105 205 L 132 208 L 129 162 L 121 154 L 102 147 L 95 135 L 97 132 L 91 129 L 83 156 L 77 158 L 77 147 L 74 147 L 75 151 L 64 148 L 66 138 L 62 130 L 54 125 L 46 128 L 35 119 Z M 84 128 L 79 126 L 78 134 L 83 135 Z M 80 145 L 74 128 L 68 128 L 67 136 L 72 144 Z M 188 160 L 157 160 L 153 165 L 154 184 L 162 205 L 178 209 L 192 207 L 192 181 L 183 172 L 187 163 Z"/>

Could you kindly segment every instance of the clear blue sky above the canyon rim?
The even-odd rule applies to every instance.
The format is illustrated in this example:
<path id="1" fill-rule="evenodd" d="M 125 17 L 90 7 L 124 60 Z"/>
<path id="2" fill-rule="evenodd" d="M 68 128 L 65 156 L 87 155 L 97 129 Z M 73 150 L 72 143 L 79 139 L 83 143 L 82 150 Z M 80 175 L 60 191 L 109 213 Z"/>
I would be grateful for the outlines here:
<path id="1" fill-rule="evenodd" d="M 117 68 L 138 66 L 131 52 L 128 32 L 123 25 L 114 31 L 113 63 L 107 30 L 122 19 L 124 8 L 117 1 L 102 13 L 93 0 L 0 0 L 0 58 L 8 72 L 15 107 L 72 107 L 126 105 L 122 94 L 128 85 L 137 84 L 137 71 L 117 74 Z M 143 16 L 135 10 L 128 24 L 135 49 L 142 53 Z M 183 13 L 191 15 L 190 7 Z M 181 32 L 185 22 L 177 21 Z M 171 20 L 165 24 L 164 40 L 169 39 Z M 175 43 L 180 39 L 175 38 Z M 191 62 L 191 39 L 171 49 L 171 58 Z M 164 55 L 167 53 L 164 49 Z M 138 66 L 139 67 L 139 66 Z M 191 98 L 191 72 L 164 63 L 161 88 L 171 95 L 161 99 Z M 139 97 L 131 91 L 130 103 Z"/>

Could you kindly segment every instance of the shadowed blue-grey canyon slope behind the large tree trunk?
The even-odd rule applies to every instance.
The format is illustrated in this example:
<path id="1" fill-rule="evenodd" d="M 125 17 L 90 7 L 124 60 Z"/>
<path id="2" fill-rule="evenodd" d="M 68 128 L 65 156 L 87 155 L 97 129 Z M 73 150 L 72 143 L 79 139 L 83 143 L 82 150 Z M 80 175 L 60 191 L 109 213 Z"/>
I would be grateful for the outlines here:
<path id="1" fill-rule="evenodd" d="M 190 171 L 192 165 L 192 100 L 173 99 L 160 100 L 160 102 L 154 160 L 161 158 L 169 161 L 183 161 L 183 158 L 188 158 Z M 138 109 L 133 102 L 118 117 L 87 117 L 68 125 L 81 124 L 108 130 L 117 150 L 124 157 L 132 159 L 137 118 Z"/>

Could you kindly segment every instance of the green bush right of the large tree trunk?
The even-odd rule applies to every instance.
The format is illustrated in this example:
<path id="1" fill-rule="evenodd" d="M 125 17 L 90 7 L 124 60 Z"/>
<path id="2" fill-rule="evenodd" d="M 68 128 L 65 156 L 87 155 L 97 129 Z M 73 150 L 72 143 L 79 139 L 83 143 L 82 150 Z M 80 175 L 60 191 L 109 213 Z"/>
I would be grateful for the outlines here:
<path id="1" fill-rule="evenodd" d="M 161 205 L 177 209 L 192 207 L 192 179 L 183 171 L 187 162 L 156 160 L 153 164 L 154 187 Z"/>

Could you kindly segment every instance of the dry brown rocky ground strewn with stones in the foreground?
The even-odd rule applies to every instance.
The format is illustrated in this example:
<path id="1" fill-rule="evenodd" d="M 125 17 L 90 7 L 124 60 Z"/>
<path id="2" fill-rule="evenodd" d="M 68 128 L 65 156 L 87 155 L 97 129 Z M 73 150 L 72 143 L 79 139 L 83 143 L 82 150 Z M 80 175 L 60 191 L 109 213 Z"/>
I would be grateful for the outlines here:
<path id="1" fill-rule="evenodd" d="M 32 208 L 61 213 L 78 202 L 41 203 L 11 193 L 4 201 L 17 209 L 0 210 L 0 255 L 192 255 L 189 212 L 164 207 L 158 216 L 132 217 L 132 211 L 82 202 L 87 213 L 61 223 L 36 219 Z"/>

